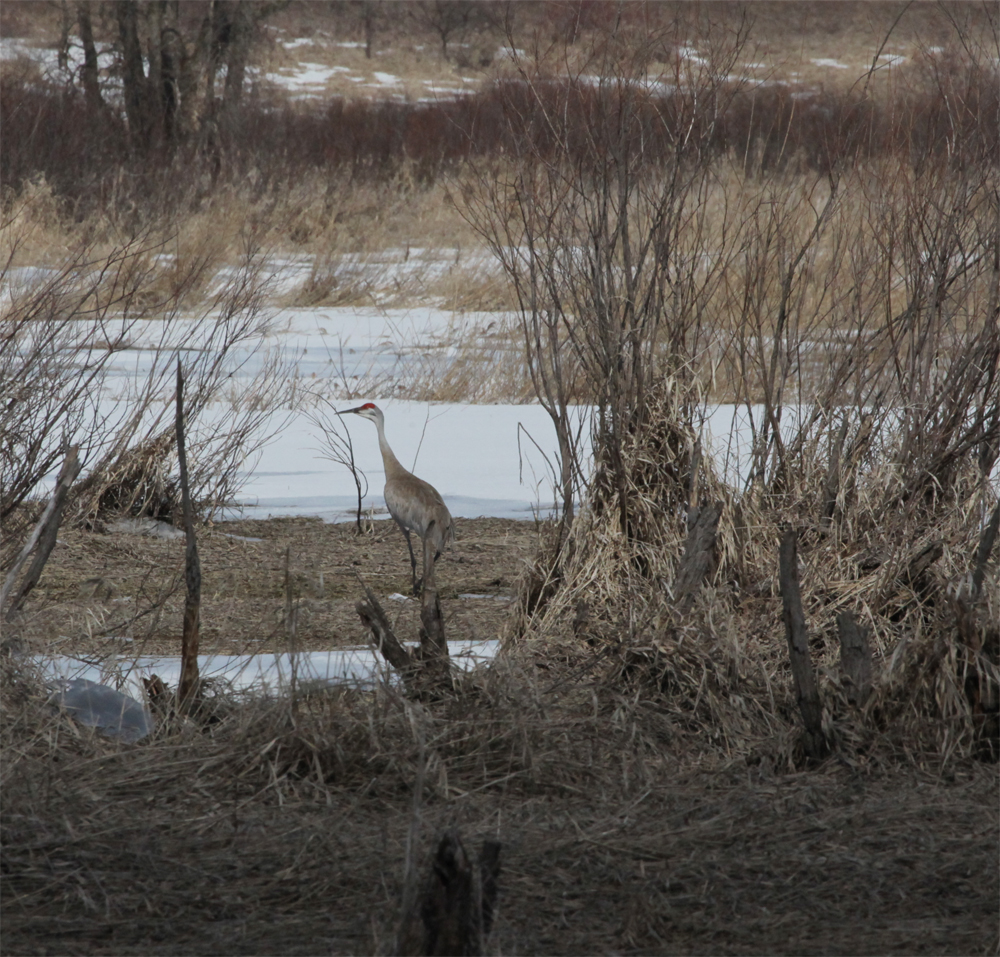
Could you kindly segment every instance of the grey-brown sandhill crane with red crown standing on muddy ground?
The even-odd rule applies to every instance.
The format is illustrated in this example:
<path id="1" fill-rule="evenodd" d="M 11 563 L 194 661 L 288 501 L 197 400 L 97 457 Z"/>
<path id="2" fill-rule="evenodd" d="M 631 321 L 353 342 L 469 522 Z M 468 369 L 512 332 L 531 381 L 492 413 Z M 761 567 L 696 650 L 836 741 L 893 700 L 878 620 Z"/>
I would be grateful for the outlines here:
<path id="1" fill-rule="evenodd" d="M 441 494 L 429 482 L 417 478 L 399 464 L 385 439 L 385 417 L 373 402 L 366 402 L 356 409 L 345 409 L 340 415 L 354 413 L 375 423 L 378 429 L 378 447 L 382 452 L 385 467 L 385 504 L 389 514 L 406 536 L 406 546 L 410 550 L 410 568 L 413 572 L 413 593 L 417 594 L 421 582 L 417 581 L 417 559 L 413 554 L 410 532 L 416 532 L 421 542 L 429 542 L 434 548 L 433 561 L 437 561 L 441 550 L 455 535 L 454 525 L 448 506 Z M 427 569 L 424 569 L 426 573 Z"/>

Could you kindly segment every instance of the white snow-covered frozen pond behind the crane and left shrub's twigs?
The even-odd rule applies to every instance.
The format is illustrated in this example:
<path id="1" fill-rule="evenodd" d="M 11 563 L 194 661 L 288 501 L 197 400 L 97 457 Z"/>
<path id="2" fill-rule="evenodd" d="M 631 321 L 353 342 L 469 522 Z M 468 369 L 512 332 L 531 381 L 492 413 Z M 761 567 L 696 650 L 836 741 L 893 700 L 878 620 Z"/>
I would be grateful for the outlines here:
<path id="1" fill-rule="evenodd" d="M 283 265 L 285 272 L 291 269 Z M 284 273 L 282 273 L 284 275 Z M 267 352 L 281 356 L 285 374 L 296 383 L 295 407 L 275 408 L 262 426 L 274 433 L 249 455 L 239 473 L 237 507 L 225 517 L 318 516 L 349 521 L 356 514 L 357 490 L 350 469 L 330 458 L 316 410 L 349 433 L 356 469 L 366 494 L 362 509 L 385 517 L 384 473 L 373 425 L 355 416 L 339 418 L 320 398 L 344 410 L 376 401 L 385 412 L 386 435 L 404 466 L 434 485 L 458 518 L 499 517 L 530 520 L 553 511 L 558 500 L 554 470 L 558 443 L 548 414 L 539 405 L 473 405 L 415 402 L 391 397 L 401 381 L 430 375 L 448 363 L 463 337 L 488 336 L 500 315 L 454 313 L 430 308 L 376 309 L 331 307 L 277 312 L 262 336 L 240 343 L 230 357 L 227 388 L 238 392 L 265 368 Z M 107 330 L 105 330 L 107 332 Z M 130 395 L 151 375 L 157 398 L 150 414 L 172 416 L 172 358 L 212 351 L 211 323 L 196 320 L 144 320 L 122 331 L 127 344 L 109 361 L 100 400 L 105 422 L 121 419 Z M 260 349 L 258 346 L 262 346 Z M 228 367 L 228 366 L 227 366 Z M 170 374 L 165 374 L 164 369 Z M 484 375 L 488 375 L 487 369 Z M 159 378 L 161 377 L 162 378 Z M 370 389 L 370 392 L 363 390 Z M 189 433 L 212 435 L 227 429 L 226 396 L 189 423 Z M 313 414 L 303 411 L 311 407 Z M 588 410 L 580 408 L 581 417 Z M 759 415 L 758 410 L 753 410 Z M 733 406 L 706 409 L 702 445 L 715 456 L 721 474 L 738 484 L 750 448 L 747 410 Z M 581 430 L 584 471 L 590 459 L 588 429 Z M 54 480 L 54 475 L 50 477 Z M 44 494 L 45 489 L 39 489 Z"/>

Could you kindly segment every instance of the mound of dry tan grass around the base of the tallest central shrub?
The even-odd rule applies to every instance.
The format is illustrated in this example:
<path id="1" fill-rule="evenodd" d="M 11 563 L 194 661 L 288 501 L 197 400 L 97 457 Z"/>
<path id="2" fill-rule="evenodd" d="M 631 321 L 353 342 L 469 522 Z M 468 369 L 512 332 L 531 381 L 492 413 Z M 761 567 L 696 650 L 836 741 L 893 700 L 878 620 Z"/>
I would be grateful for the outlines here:
<path id="1" fill-rule="evenodd" d="M 684 407 L 683 391 L 661 383 L 647 424 L 624 443 L 624 507 L 598 462 L 592 504 L 527 571 L 513 634 L 543 656 L 556 642 L 589 675 L 602 709 L 632 700 L 653 722 L 654 740 L 665 735 L 675 753 L 711 742 L 722 754 L 746 754 L 779 728 L 787 736 L 791 715 L 776 709 L 772 688 L 783 652 L 742 630 L 735 498 L 701 453 L 696 406 Z M 705 556 L 710 582 L 699 591 L 679 569 L 689 522 L 712 509 L 721 521 Z"/>

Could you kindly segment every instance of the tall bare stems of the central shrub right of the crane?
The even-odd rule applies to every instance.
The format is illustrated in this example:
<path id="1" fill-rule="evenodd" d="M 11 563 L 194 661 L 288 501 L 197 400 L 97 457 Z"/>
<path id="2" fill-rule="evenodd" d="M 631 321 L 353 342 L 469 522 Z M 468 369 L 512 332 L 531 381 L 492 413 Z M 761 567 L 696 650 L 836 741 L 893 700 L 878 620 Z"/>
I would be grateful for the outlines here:
<path id="1" fill-rule="evenodd" d="M 706 230 L 714 118 L 733 96 L 727 77 L 745 39 L 737 30 L 713 45 L 699 69 L 678 61 L 668 100 L 644 80 L 662 38 L 639 42 L 617 27 L 571 82 L 518 63 L 520 84 L 499 91 L 516 159 L 482 169 L 467 209 L 514 287 L 528 369 L 559 440 L 568 517 L 582 478 L 570 404 L 595 410 L 604 477 L 593 504 L 613 496 L 629 529 L 626 437 L 648 424 L 660 376 L 694 378 L 724 259 Z"/>

